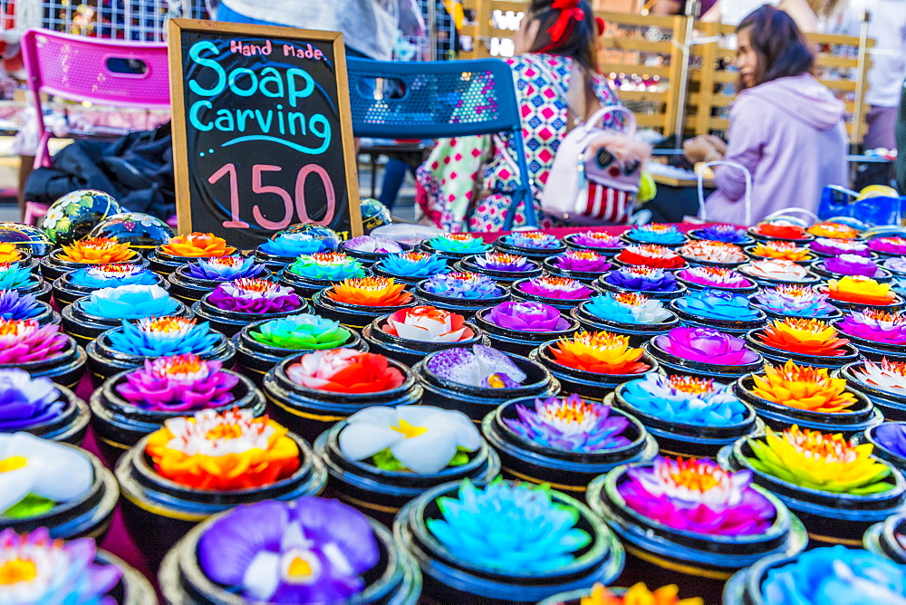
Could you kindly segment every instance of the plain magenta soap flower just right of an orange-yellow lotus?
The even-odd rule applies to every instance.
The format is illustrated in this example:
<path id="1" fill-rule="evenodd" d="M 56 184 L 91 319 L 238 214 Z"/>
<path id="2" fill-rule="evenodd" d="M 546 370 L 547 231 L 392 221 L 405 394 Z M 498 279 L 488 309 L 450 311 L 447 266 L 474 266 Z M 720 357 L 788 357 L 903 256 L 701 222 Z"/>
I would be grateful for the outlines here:
<path id="1" fill-rule="evenodd" d="M 710 328 L 674 328 L 655 336 L 654 342 L 670 355 L 699 363 L 741 366 L 759 359 L 746 341 Z"/>

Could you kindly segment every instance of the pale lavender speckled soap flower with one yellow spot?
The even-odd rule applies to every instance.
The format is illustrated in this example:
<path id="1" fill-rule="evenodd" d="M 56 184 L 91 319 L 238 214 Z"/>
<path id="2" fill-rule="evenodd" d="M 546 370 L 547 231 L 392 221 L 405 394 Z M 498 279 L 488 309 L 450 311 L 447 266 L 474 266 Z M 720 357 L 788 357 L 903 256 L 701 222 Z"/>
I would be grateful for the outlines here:
<path id="1" fill-rule="evenodd" d="M 472 349 L 446 349 L 431 355 L 428 370 L 440 379 L 470 387 L 511 389 L 525 380 L 520 370 L 506 354 L 483 344 Z"/>

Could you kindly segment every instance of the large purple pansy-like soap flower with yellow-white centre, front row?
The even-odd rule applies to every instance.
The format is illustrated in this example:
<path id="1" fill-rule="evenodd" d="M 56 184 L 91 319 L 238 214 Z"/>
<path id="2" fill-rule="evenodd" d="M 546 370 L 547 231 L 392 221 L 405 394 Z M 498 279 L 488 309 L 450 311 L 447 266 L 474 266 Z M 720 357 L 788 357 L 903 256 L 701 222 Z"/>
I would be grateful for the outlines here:
<path id="1" fill-rule="evenodd" d="M 255 602 L 347 601 L 380 559 L 368 517 L 314 496 L 236 506 L 198 539 L 207 578 Z"/>

